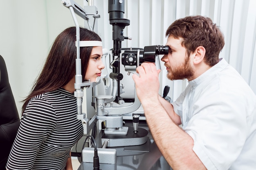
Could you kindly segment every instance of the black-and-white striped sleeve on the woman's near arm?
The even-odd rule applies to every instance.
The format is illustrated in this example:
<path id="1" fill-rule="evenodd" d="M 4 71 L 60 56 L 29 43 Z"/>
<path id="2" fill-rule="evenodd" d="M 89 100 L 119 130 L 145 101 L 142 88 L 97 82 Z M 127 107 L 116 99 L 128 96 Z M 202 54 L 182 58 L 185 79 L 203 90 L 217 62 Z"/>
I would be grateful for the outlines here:
<path id="1" fill-rule="evenodd" d="M 22 115 L 9 155 L 7 170 L 31 169 L 40 144 L 55 125 L 56 114 L 52 105 L 42 99 L 32 100 Z"/>

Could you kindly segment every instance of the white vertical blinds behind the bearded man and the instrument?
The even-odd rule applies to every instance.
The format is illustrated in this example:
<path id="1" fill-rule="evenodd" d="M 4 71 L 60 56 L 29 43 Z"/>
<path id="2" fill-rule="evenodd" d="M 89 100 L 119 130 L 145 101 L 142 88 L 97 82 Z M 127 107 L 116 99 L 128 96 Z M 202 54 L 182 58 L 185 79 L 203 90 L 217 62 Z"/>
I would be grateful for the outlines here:
<path id="1" fill-rule="evenodd" d="M 105 48 L 112 48 L 112 26 L 108 21 L 108 1 L 94 0 L 101 19 L 98 33 Z M 210 17 L 225 36 L 220 58 L 225 58 L 256 93 L 256 0 L 126 0 L 124 18 L 130 25 L 122 48 L 165 45 L 165 31 L 176 19 L 189 15 Z M 166 70 L 160 75 L 161 91 L 169 85 L 168 96 L 175 100 L 187 85 L 186 80 L 170 81 Z"/>

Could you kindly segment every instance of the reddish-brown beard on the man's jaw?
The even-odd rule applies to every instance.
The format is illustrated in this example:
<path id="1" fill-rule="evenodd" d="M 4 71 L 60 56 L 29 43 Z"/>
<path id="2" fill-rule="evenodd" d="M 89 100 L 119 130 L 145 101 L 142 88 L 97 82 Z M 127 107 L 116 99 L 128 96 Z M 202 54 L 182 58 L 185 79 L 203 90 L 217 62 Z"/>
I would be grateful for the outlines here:
<path id="1" fill-rule="evenodd" d="M 177 65 L 175 68 L 167 66 L 170 70 L 167 73 L 167 78 L 170 80 L 182 80 L 193 76 L 194 71 L 189 64 L 189 57 L 186 57 L 184 63 Z"/>

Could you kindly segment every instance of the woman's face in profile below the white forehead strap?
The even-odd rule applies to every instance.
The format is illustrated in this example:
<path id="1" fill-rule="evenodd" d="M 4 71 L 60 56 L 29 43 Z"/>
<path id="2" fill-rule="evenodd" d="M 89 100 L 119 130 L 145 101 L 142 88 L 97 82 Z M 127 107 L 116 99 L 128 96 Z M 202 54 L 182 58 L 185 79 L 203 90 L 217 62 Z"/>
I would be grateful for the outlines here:
<path id="1" fill-rule="evenodd" d="M 96 81 L 96 78 L 101 76 L 101 70 L 105 68 L 101 60 L 102 55 L 103 52 L 101 46 L 92 48 L 88 68 L 85 73 L 85 80 Z"/>

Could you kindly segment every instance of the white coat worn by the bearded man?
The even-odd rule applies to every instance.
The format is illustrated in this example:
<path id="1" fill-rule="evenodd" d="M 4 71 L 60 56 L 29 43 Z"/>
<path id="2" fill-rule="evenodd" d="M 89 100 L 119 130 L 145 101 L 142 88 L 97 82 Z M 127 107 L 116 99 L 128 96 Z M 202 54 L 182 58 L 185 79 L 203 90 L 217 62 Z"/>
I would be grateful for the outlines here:
<path id="1" fill-rule="evenodd" d="M 256 95 L 225 59 L 172 103 L 208 170 L 256 169 Z"/>

